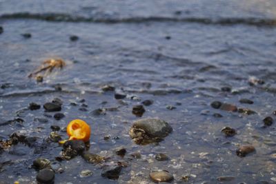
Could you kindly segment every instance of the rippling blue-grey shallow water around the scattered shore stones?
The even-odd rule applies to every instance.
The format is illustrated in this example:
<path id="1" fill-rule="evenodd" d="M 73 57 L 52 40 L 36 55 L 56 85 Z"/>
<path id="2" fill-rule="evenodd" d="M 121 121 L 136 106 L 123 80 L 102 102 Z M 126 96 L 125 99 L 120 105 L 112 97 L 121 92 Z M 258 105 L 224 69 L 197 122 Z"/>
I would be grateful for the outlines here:
<path id="1" fill-rule="evenodd" d="M 117 181 L 109 181 L 101 177 L 99 165 L 79 156 L 61 162 L 64 172 L 55 174 L 56 183 L 150 183 L 149 172 L 159 169 L 175 176 L 172 183 L 183 182 L 184 175 L 190 175 L 190 183 L 217 183 L 218 176 L 235 176 L 228 183 L 275 182 L 275 125 L 262 127 L 262 119 L 274 118 L 276 110 L 275 12 L 275 1 L 0 1 L 4 29 L 0 34 L 0 123 L 18 116 L 24 120 L 1 125 L 0 136 L 8 139 L 12 132 L 23 130 L 38 137 L 34 147 L 19 143 L 11 148 L 17 154 L 1 154 L 0 180 L 35 183 L 32 161 L 38 157 L 55 161 L 62 150 L 57 143 L 45 143 L 50 126 L 66 127 L 79 118 L 92 128 L 90 152 L 111 156 L 111 161 L 128 161 L 128 167 Z M 32 37 L 26 39 L 23 33 Z M 70 41 L 70 35 L 79 40 Z M 64 59 L 66 67 L 43 83 L 28 79 L 30 72 L 52 57 Z M 264 80 L 264 85 L 249 85 L 252 77 Z M 128 105 L 121 105 L 114 92 L 102 92 L 105 84 L 128 94 L 124 99 Z M 57 85 L 61 91 L 55 90 Z M 231 92 L 221 91 L 225 86 Z M 131 96 L 154 101 L 145 107 L 142 118 L 168 121 L 172 134 L 157 145 L 133 143 L 128 130 L 141 118 L 132 114 L 132 106 L 141 101 Z M 55 98 L 63 101 L 65 118 L 60 121 L 44 116 L 42 108 L 18 113 L 30 102 L 43 105 Z M 239 103 L 244 98 L 253 100 L 253 105 Z M 81 99 L 88 105 L 86 112 L 79 110 Z M 215 110 L 210 107 L 212 101 L 250 108 L 257 114 Z M 166 105 L 176 109 L 168 110 Z M 90 113 L 102 107 L 117 111 L 102 116 Z M 37 117 L 48 122 L 36 121 Z M 237 130 L 235 136 L 226 138 L 220 132 L 227 125 Z M 66 139 L 65 132 L 59 133 Z M 103 140 L 107 135 L 110 140 Z M 112 139 L 115 136 L 119 139 Z M 238 145 L 248 143 L 256 152 L 236 156 Z M 127 150 L 124 158 L 112 152 L 120 146 Z M 131 152 L 141 152 L 141 159 L 129 161 Z M 156 161 L 154 155 L 159 152 L 167 154 L 169 161 Z M 79 172 L 85 169 L 94 174 L 81 178 Z"/>

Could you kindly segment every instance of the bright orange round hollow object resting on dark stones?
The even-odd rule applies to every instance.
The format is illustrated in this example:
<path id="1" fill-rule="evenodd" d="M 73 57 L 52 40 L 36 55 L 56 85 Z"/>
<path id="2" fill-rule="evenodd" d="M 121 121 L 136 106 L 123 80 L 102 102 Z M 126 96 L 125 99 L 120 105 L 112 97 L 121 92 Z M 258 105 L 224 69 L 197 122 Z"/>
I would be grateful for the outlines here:
<path id="1" fill-rule="evenodd" d="M 71 121 L 67 126 L 69 140 L 82 140 L 84 142 L 90 139 L 90 126 L 81 119 Z"/>

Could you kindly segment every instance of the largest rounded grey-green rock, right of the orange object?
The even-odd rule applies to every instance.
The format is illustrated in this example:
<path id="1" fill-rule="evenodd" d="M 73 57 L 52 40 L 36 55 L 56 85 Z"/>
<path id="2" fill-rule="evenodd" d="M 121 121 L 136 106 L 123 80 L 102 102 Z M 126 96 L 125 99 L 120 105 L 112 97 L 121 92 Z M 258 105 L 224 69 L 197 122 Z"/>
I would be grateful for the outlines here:
<path id="1" fill-rule="evenodd" d="M 130 137 L 137 144 L 161 141 L 172 132 L 172 127 L 160 119 L 140 119 L 130 128 Z"/>

